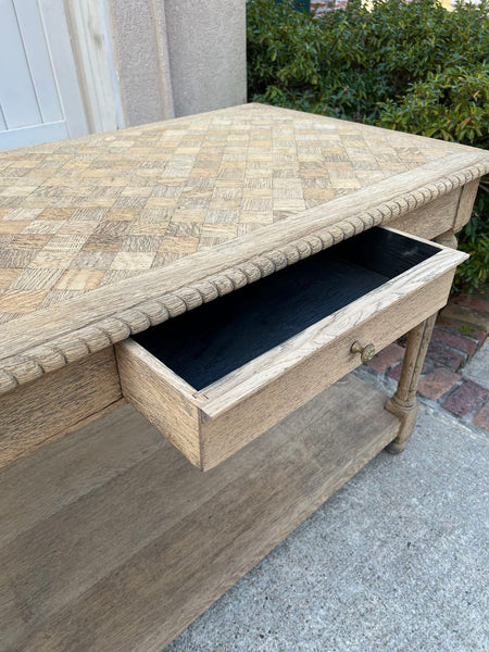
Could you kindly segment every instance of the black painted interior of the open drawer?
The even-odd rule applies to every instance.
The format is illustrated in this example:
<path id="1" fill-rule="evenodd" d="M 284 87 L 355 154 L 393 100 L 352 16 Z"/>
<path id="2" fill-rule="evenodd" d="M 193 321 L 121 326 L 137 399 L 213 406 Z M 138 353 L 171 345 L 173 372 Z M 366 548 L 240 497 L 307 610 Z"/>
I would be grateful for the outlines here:
<path id="1" fill-rule="evenodd" d="M 199 390 L 438 251 L 373 228 L 134 339 Z"/>

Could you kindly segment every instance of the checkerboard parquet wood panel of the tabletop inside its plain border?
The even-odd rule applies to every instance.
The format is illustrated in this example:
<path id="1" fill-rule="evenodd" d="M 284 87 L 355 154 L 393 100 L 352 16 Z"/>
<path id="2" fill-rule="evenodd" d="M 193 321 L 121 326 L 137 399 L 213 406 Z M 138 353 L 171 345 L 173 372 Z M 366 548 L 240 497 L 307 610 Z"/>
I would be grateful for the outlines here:
<path id="1" fill-rule="evenodd" d="M 1 152 L 0 323 L 231 240 L 453 147 L 248 104 Z"/>

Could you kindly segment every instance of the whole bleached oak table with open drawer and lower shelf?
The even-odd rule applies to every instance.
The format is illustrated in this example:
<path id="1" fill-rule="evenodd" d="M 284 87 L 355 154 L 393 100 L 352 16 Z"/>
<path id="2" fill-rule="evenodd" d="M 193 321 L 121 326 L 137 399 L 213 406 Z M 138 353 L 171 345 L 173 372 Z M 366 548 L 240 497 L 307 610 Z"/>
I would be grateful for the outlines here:
<path id="1" fill-rule="evenodd" d="M 258 104 L 0 153 L 0 650 L 160 650 L 401 451 L 488 171 Z"/>

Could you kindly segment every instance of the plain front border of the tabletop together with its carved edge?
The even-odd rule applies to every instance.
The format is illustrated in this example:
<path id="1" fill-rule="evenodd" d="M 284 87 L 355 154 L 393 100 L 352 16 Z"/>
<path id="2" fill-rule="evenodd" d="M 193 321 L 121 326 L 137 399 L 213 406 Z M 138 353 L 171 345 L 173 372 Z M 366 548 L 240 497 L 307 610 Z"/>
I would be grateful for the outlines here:
<path id="1" fill-rule="evenodd" d="M 488 152 L 464 146 L 456 150 L 241 238 L 7 323 L 0 342 L 0 394 L 389 224 L 489 173 Z"/>

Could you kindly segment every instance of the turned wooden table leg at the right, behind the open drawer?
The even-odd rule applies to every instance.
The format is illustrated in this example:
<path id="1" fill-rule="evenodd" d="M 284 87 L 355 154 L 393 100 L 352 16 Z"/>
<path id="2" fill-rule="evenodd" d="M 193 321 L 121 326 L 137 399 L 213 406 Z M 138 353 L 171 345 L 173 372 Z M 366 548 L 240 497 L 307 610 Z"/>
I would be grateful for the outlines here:
<path id="1" fill-rule="evenodd" d="M 444 247 L 456 249 L 456 237 L 451 229 L 438 236 L 436 241 Z M 386 403 L 386 410 L 396 414 L 401 422 L 398 436 L 386 448 L 386 451 L 389 453 L 402 453 L 416 425 L 417 413 L 419 411 L 419 404 L 416 400 L 417 384 L 436 318 L 437 313 L 415 326 L 408 334 L 408 347 L 405 349 L 398 389 L 394 396 Z"/>

